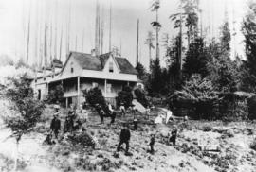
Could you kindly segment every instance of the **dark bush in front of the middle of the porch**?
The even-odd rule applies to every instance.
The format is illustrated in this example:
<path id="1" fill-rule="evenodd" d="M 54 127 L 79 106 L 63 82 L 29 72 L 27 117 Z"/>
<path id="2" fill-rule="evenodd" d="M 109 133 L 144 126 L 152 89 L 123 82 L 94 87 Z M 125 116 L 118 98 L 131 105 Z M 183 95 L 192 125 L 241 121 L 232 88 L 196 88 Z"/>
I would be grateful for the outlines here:
<path id="1" fill-rule="evenodd" d="M 91 106 L 100 104 L 102 107 L 104 107 L 106 105 L 105 98 L 102 95 L 101 89 L 98 87 L 92 88 L 88 92 L 84 91 L 83 94 Z"/>

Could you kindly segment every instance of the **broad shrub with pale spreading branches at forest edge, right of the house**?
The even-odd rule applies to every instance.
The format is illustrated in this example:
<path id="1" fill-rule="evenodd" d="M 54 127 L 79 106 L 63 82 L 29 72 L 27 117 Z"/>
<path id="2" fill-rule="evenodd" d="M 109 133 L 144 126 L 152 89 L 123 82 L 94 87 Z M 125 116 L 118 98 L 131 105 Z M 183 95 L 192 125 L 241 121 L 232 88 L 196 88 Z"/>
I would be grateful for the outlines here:
<path id="1" fill-rule="evenodd" d="M 181 91 L 174 92 L 168 97 L 169 105 L 176 111 L 194 114 L 193 118 L 210 119 L 213 117 L 213 108 L 218 100 L 218 95 L 210 80 L 201 78 L 200 75 L 193 75 Z M 181 106 L 183 105 L 183 106 Z M 186 115 L 188 115 L 186 113 Z M 184 114 L 182 114 L 184 115 Z"/>

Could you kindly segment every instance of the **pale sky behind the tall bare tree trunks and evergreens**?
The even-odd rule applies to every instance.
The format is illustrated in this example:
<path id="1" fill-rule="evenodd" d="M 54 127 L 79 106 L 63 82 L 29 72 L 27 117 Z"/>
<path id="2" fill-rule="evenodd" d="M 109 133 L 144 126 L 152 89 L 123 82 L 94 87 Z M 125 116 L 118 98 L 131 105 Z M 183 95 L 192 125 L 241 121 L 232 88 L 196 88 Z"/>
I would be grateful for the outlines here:
<path id="1" fill-rule="evenodd" d="M 109 7 L 112 5 L 112 46 L 121 49 L 121 56 L 136 64 L 137 19 L 139 19 L 139 61 L 148 68 L 149 51 L 145 44 L 148 31 L 155 30 L 150 23 L 155 21 L 155 12 L 149 7 L 153 0 L 99 0 L 104 19 L 103 53 L 109 50 Z M 168 33 L 177 34 L 169 16 L 177 11 L 178 0 L 160 0 L 159 33 L 160 58 L 164 64 L 164 47 L 161 38 Z M 218 37 L 224 21 L 225 6 L 229 14 L 231 30 L 231 56 L 236 52 L 244 56 L 241 22 L 245 15 L 244 0 L 200 0 L 202 23 L 207 39 Z M 70 9 L 70 10 L 69 10 Z M 70 23 L 69 21 L 70 11 Z M 45 56 L 45 24 L 47 24 L 47 58 L 66 60 L 66 41 L 69 32 L 70 50 L 90 53 L 95 41 L 96 0 L 0 0 L 0 55 L 8 54 L 14 60 L 27 56 L 28 62 L 39 63 Z M 30 16 L 30 17 L 29 17 Z M 28 21 L 30 21 L 28 25 Z M 69 23 L 69 25 L 68 25 Z M 29 31 L 29 39 L 27 36 Z M 69 30 L 69 31 L 68 31 Z M 52 33 L 52 34 L 50 34 Z M 52 40 L 52 42 L 49 42 Z M 62 40 L 62 44 L 61 44 Z M 186 42 L 184 40 L 184 42 Z M 83 45 L 83 46 L 82 46 Z M 153 58 L 155 50 L 153 50 Z"/>

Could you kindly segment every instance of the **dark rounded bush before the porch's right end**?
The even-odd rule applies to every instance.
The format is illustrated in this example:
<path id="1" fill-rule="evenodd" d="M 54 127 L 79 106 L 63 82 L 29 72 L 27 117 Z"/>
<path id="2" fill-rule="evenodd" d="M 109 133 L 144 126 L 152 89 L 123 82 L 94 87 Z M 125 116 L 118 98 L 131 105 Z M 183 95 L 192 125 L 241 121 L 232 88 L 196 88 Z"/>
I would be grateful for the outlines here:
<path id="1" fill-rule="evenodd" d="M 123 87 L 122 91 L 119 92 L 117 97 L 117 105 L 120 106 L 122 102 L 126 108 L 131 106 L 133 101 L 132 88 L 129 86 Z"/>

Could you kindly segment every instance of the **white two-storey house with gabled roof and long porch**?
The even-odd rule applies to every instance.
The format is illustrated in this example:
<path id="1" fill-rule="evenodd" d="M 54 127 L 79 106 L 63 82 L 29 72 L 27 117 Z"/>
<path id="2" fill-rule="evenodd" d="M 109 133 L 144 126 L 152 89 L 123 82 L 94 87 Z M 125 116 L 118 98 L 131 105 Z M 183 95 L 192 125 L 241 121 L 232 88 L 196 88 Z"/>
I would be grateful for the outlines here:
<path id="1" fill-rule="evenodd" d="M 46 71 L 46 70 L 45 70 Z M 45 99 L 50 89 L 62 84 L 66 106 L 84 101 L 83 90 L 98 86 L 105 99 L 115 104 L 122 87 L 137 84 L 137 70 L 125 58 L 112 53 L 96 57 L 92 54 L 70 52 L 64 66 L 59 70 L 37 73 L 32 82 L 38 99 Z"/>

